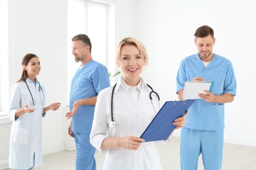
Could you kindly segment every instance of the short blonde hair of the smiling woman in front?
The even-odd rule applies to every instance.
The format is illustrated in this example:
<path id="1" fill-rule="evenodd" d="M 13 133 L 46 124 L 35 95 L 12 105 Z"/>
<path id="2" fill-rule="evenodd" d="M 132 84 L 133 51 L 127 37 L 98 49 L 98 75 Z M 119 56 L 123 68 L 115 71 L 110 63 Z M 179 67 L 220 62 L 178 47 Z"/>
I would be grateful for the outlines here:
<path id="1" fill-rule="evenodd" d="M 146 48 L 142 42 L 140 42 L 138 39 L 132 38 L 132 37 L 126 37 L 121 42 L 119 42 L 119 45 L 117 46 L 117 52 L 116 52 L 116 63 L 121 59 L 121 47 L 124 45 L 134 45 L 138 48 L 140 55 L 142 58 L 145 59 L 145 65 L 148 65 L 148 54 L 146 53 Z"/>

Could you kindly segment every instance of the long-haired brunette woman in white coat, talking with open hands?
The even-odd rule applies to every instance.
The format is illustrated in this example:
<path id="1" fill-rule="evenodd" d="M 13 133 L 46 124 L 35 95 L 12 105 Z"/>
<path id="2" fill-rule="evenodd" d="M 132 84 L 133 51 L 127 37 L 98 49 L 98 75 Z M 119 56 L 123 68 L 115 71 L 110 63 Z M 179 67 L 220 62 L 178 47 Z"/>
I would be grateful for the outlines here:
<path id="1" fill-rule="evenodd" d="M 42 117 L 47 110 L 57 110 L 60 103 L 45 105 L 45 88 L 36 76 L 41 65 L 35 54 L 22 60 L 22 76 L 11 88 L 11 140 L 9 167 L 33 169 L 42 164 Z"/>

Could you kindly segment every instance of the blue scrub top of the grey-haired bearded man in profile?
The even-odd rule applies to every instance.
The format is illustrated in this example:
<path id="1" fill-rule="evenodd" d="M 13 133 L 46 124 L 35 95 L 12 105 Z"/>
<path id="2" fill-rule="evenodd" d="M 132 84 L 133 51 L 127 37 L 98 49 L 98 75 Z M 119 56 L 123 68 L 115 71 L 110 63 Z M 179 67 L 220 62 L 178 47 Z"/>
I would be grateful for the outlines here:
<path id="1" fill-rule="evenodd" d="M 104 65 L 91 60 L 81 69 L 77 69 L 70 90 L 70 110 L 76 100 L 86 99 L 110 86 L 108 70 Z M 72 117 L 72 131 L 76 133 L 90 133 L 93 123 L 95 105 L 81 105 Z"/>

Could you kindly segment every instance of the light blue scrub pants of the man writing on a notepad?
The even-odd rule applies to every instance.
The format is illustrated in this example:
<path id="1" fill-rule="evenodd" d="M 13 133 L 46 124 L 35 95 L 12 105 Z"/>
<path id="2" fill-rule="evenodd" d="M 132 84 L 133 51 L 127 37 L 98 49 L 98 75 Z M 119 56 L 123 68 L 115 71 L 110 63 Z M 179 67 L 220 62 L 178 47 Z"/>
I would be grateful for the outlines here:
<path id="1" fill-rule="evenodd" d="M 181 169 L 198 169 L 198 158 L 201 153 L 205 170 L 221 170 L 223 130 L 203 131 L 182 127 Z"/>

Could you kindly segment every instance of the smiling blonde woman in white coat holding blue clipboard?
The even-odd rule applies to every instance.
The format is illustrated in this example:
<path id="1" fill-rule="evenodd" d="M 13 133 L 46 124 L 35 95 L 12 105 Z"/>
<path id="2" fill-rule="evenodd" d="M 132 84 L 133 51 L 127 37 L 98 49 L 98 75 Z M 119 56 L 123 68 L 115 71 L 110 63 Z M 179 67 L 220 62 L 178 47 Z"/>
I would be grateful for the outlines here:
<path id="1" fill-rule="evenodd" d="M 148 55 L 137 39 L 125 38 L 117 47 L 117 65 L 123 76 L 97 97 L 90 141 L 101 153 L 106 153 L 103 169 L 162 169 L 156 142 L 143 143 L 140 135 L 160 109 L 155 93 L 150 102 L 150 87 L 140 78 Z M 111 100 L 113 97 L 113 118 Z M 115 126 L 113 125 L 112 120 Z M 184 126 L 185 116 L 173 124 Z"/>

